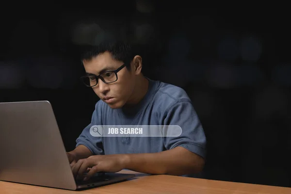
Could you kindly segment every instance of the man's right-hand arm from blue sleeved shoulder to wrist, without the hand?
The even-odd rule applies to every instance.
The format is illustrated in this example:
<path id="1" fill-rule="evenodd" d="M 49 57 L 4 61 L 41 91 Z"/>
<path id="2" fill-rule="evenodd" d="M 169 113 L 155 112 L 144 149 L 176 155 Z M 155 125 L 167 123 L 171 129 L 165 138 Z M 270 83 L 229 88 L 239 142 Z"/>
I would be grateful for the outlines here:
<path id="1" fill-rule="evenodd" d="M 186 175 L 201 172 L 205 163 L 206 137 L 190 99 L 184 98 L 169 107 L 162 117 L 162 124 L 178 125 L 182 129 L 181 134 L 163 138 L 166 151 L 129 156 L 127 168 L 138 172 L 148 171 L 150 174 Z"/>

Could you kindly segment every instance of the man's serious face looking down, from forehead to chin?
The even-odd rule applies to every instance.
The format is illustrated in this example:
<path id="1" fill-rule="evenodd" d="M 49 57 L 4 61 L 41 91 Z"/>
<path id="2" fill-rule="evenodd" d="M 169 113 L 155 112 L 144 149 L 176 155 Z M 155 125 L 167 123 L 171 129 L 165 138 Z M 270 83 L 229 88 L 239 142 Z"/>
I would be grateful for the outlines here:
<path id="1" fill-rule="evenodd" d="M 114 60 L 109 52 L 104 52 L 92 60 L 83 61 L 83 65 L 86 73 L 99 75 L 103 69 L 115 70 L 123 63 Z M 128 101 L 135 84 L 134 73 L 126 67 L 117 73 L 117 77 L 118 80 L 113 83 L 104 83 L 99 79 L 98 84 L 92 87 L 97 96 L 113 109 L 121 108 Z"/>

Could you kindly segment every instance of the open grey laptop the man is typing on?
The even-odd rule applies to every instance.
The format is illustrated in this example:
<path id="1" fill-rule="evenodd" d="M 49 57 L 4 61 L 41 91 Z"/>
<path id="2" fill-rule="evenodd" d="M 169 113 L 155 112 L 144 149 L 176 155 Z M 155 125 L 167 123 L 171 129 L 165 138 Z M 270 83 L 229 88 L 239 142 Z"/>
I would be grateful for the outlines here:
<path id="1" fill-rule="evenodd" d="M 75 179 L 49 101 L 0 103 L 0 180 L 79 190 L 133 178 L 101 173 Z"/>

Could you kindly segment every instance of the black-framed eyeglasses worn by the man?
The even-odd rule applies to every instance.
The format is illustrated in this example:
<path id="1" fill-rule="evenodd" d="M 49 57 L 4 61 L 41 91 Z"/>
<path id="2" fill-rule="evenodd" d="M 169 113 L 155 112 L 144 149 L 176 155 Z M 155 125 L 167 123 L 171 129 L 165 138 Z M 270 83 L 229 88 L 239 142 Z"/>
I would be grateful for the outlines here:
<path id="1" fill-rule="evenodd" d="M 96 86 L 98 83 L 98 80 L 102 80 L 104 83 L 112 83 L 118 80 L 117 73 L 123 69 L 126 65 L 121 65 L 118 69 L 113 71 L 105 71 L 101 73 L 100 75 L 86 75 L 82 76 L 80 79 L 87 87 L 93 87 Z"/>

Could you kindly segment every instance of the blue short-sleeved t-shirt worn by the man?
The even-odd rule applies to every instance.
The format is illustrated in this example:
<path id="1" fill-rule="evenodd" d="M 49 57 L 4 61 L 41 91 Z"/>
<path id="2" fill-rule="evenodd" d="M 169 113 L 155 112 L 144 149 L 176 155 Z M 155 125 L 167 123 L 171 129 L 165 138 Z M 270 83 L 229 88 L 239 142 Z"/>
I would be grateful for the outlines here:
<path id="1" fill-rule="evenodd" d="M 96 103 L 91 123 L 77 138 L 77 146 L 87 146 L 94 154 L 154 153 L 182 146 L 203 158 L 206 137 L 200 120 L 186 92 L 177 86 L 149 80 L 146 96 L 134 107 L 111 109 L 105 102 Z M 94 137 L 93 125 L 178 125 L 178 137 Z"/>

